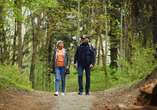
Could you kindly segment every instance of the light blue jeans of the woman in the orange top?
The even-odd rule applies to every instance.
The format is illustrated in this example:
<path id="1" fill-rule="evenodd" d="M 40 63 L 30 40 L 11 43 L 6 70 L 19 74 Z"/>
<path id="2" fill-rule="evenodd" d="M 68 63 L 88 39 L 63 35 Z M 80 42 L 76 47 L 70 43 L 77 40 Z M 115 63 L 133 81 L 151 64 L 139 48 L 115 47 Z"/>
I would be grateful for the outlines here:
<path id="1" fill-rule="evenodd" d="M 55 74 L 55 88 L 56 91 L 59 91 L 59 82 L 60 82 L 60 75 L 61 75 L 61 81 L 62 81 L 62 92 L 65 91 L 65 67 L 64 66 L 57 66 L 56 67 L 56 74 Z"/>

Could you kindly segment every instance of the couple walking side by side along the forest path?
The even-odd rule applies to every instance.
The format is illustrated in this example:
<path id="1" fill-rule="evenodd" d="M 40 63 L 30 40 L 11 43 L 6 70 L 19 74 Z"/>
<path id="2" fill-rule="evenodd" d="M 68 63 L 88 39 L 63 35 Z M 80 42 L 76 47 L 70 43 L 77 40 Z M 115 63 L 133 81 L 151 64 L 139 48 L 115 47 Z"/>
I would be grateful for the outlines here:
<path id="1" fill-rule="evenodd" d="M 83 35 L 81 37 L 82 42 L 77 47 L 75 56 L 74 56 L 74 67 L 78 69 L 78 83 L 79 83 L 79 92 L 78 95 L 83 94 L 83 70 L 86 73 L 86 95 L 89 95 L 90 88 L 90 71 L 94 66 L 95 62 L 95 53 L 92 44 L 89 42 L 89 37 Z M 62 82 L 62 92 L 61 95 L 65 95 L 65 85 L 66 85 L 66 74 L 69 74 L 70 67 L 70 56 L 68 51 L 63 48 L 63 41 L 59 40 L 57 42 L 58 49 L 54 51 L 52 63 L 51 63 L 51 72 L 55 74 L 55 96 L 59 95 L 59 82 L 61 76 Z"/>

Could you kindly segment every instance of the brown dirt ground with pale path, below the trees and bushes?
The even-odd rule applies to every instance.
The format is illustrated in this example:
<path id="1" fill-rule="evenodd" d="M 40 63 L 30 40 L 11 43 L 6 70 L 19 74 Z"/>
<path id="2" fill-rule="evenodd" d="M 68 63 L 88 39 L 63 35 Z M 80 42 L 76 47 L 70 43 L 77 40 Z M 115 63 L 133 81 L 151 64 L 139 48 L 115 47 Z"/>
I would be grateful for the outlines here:
<path id="1" fill-rule="evenodd" d="M 139 95 L 139 88 L 157 83 L 157 68 L 139 83 L 122 85 L 101 92 L 90 92 L 89 96 L 77 92 L 66 92 L 54 96 L 53 92 L 28 92 L 16 89 L 0 89 L 0 110 L 104 110 L 110 104 L 130 106 Z"/>

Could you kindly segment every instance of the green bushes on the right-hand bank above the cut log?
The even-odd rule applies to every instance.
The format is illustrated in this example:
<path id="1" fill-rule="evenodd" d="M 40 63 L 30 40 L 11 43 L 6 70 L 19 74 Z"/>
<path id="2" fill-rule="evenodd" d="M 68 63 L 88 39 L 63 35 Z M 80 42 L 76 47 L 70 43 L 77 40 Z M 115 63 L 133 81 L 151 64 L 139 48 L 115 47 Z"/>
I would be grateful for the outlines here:
<path id="1" fill-rule="evenodd" d="M 130 83 L 135 80 L 141 80 L 146 77 L 156 66 L 154 62 L 154 50 L 151 48 L 141 48 L 140 45 L 134 45 L 133 65 L 127 61 L 122 61 L 122 68 L 115 71 L 111 76 L 117 79 L 119 84 Z M 110 70 L 111 71 L 111 70 Z"/>

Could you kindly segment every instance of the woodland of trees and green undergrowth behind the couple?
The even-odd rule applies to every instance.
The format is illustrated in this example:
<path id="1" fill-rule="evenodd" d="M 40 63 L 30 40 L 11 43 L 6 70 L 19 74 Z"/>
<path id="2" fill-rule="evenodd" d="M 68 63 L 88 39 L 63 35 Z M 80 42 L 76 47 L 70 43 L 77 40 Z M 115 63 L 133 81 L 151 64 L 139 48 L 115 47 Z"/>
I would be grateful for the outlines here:
<path id="1" fill-rule="evenodd" d="M 0 77 L 54 91 L 50 63 L 63 40 L 66 91 L 78 91 L 73 57 L 83 34 L 95 47 L 91 91 L 140 80 L 157 64 L 157 0 L 1 0 Z"/>

